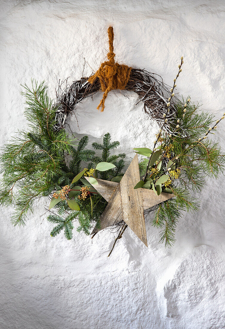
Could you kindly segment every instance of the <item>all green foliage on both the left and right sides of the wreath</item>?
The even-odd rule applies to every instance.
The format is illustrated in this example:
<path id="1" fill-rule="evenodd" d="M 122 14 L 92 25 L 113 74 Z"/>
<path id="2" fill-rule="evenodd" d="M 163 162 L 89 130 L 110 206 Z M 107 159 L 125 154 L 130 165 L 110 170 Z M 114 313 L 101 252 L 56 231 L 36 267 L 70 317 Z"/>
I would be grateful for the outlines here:
<path id="1" fill-rule="evenodd" d="M 71 139 L 64 129 L 55 131 L 57 107 L 48 97 L 44 82 L 38 85 L 32 80 L 31 89 L 25 85 L 22 94 L 26 98 L 25 116 L 29 121 L 29 129 L 19 131 L 2 150 L 0 157 L 0 172 L 3 174 L 0 204 L 14 206 L 14 225 L 25 224 L 27 214 L 33 211 L 34 202 L 38 198 L 62 190 L 65 185 L 73 187 L 76 184 L 76 190 L 84 185 L 89 186 L 83 177 L 83 162 L 88 170 L 101 163 L 93 174 L 95 178 L 99 175 L 101 179 L 119 182 L 123 176 L 125 158 L 124 153 L 111 155 L 119 142 L 111 141 L 109 133 L 104 135 L 102 144 L 92 144 L 96 155 L 94 150 L 86 148 L 88 136 L 78 142 L 77 139 Z M 139 163 L 140 175 L 147 171 L 147 176 L 136 188 L 152 189 L 157 195 L 161 192 L 175 195 L 175 198 L 156 207 L 153 219 L 153 225 L 161 229 L 160 242 L 168 247 L 175 242 L 175 230 L 182 211 L 195 212 L 199 208 L 190 192 L 201 191 L 206 178 L 217 178 L 224 172 L 225 166 L 225 155 L 217 142 L 198 140 L 212 125 L 213 115 L 199 112 L 198 105 L 189 103 L 183 117 L 184 103 L 187 101 L 178 101 L 175 105 L 176 113 L 171 120 L 171 130 L 176 127 L 178 118 L 181 123 L 171 138 L 162 133 L 153 154 L 149 148 L 135 148 L 138 154 L 147 157 Z M 98 151 L 101 151 L 101 155 Z M 71 156 L 69 166 L 65 161 L 68 155 Z M 147 169 L 150 155 L 150 167 Z M 109 163 L 112 165 L 109 166 Z M 168 171 L 169 168 L 171 170 Z M 95 178 L 90 177 L 92 180 Z M 107 206 L 106 200 L 93 187 L 84 199 L 79 191 L 71 192 L 68 190 L 67 201 L 52 201 L 53 207 L 58 210 L 58 215 L 48 216 L 48 221 L 56 224 L 51 231 L 52 237 L 64 230 L 66 239 L 70 240 L 75 226 L 78 232 L 83 231 L 88 235 L 94 225 L 99 225 L 100 216 Z"/>

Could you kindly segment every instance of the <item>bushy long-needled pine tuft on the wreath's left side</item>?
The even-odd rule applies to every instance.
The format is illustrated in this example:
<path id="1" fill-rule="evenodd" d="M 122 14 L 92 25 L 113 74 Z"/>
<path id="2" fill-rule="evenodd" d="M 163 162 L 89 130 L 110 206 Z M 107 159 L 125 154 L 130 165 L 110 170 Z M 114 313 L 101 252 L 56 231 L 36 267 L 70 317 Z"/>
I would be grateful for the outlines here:
<path id="1" fill-rule="evenodd" d="M 33 210 L 34 201 L 52 190 L 69 183 L 72 176 L 65 164 L 65 153 L 72 153 L 76 139 L 70 139 L 62 129 L 55 132 L 55 108 L 47 96 L 44 82 L 32 80 L 32 88 L 24 86 L 25 115 L 29 131 L 17 133 L 2 150 L 0 157 L 0 204 L 14 205 L 12 222 L 24 225 L 27 213 Z"/>

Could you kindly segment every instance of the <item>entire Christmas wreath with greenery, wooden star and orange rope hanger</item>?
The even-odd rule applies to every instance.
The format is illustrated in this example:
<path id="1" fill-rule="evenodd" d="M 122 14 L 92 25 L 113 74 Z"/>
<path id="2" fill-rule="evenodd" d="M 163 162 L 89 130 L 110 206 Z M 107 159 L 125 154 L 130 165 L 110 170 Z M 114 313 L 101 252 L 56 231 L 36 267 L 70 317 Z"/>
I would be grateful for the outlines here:
<path id="1" fill-rule="evenodd" d="M 175 96 L 183 57 L 170 89 L 155 74 L 115 63 L 112 27 L 108 34 L 108 61 L 89 78 L 82 77 L 64 91 L 59 84 L 55 103 L 49 98 L 44 82 L 32 80 L 31 88 L 23 86 L 29 129 L 19 131 L 2 150 L 0 202 L 3 206 L 13 205 L 14 225 L 25 225 L 34 202 L 49 197 L 51 214 L 47 219 L 55 225 L 52 237 L 64 230 L 70 240 L 74 227 L 87 235 L 94 227 L 93 237 L 99 230 L 114 225 L 119 232 L 112 249 L 127 226 L 147 245 L 143 216 L 139 213 L 143 209 L 145 214 L 154 211 L 152 224 L 160 229 L 160 242 L 171 246 L 182 211 L 199 209 L 190 192 L 199 192 L 206 177 L 217 178 L 224 171 L 225 155 L 218 142 L 208 137 L 225 114 L 215 120 L 212 114 L 199 111 L 198 104 L 191 103 L 189 96 L 185 99 Z M 101 144 L 94 142 L 89 149 L 88 136 L 78 141 L 65 130 L 66 118 L 75 114 L 79 102 L 102 90 L 104 95 L 98 109 L 103 111 L 112 89 L 135 91 L 138 102 L 143 102 L 144 112 L 160 127 L 153 147 L 134 145 L 141 160 L 138 163 L 136 156 L 125 174 L 126 155 L 111 154 L 119 141 L 111 141 L 109 133 Z M 124 191 L 125 184 L 129 195 Z M 124 217 L 126 211 L 133 211 L 129 218 Z"/>

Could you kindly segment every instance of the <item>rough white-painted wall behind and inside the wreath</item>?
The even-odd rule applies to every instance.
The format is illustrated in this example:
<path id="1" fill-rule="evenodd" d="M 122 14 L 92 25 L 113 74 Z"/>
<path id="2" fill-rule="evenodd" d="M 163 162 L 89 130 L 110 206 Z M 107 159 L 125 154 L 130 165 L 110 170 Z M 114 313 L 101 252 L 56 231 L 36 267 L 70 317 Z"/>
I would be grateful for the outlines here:
<path id="1" fill-rule="evenodd" d="M 178 92 L 219 116 L 225 105 L 225 3 L 221 1 L 1 0 L 1 143 L 26 129 L 20 83 L 45 80 L 54 97 L 56 76 L 82 75 L 83 58 L 96 70 L 106 56 L 107 27 L 115 32 L 119 62 L 145 67 L 171 84 L 184 56 Z M 105 48 L 105 49 L 104 49 Z M 85 74 L 91 68 L 85 66 Z M 110 132 L 121 150 L 151 146 L 156 125 L 135 107 L 136 95 L 112 91 L 105 112 L 88 99 L 77 106 L 78 138 Z M 225 150 L 225 126 L 217 138 Z M 110 258 L 113 235 L 90 240 L 74 232 L 51 238 L 45 200 L 24 228 L 1 210 L 0 327 L 4 329 L 225 328 L 225 179 L 207 181 L 202 208 L 185 214 L 176 245 L 158 244 L 146 220 L 149 247 L 127 229 Z"/>

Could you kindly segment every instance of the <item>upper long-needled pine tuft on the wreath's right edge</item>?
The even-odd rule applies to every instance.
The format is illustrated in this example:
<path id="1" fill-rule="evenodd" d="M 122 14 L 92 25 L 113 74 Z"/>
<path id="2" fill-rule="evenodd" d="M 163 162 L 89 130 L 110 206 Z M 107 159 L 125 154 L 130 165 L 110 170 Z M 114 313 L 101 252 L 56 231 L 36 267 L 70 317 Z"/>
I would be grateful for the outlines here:
<path id="1" fill-rule="evenodd" d="M 177 105 L 181 115 L 182 103 Z M 172 137 L 173 154 L 179 155 L 177 167 L 181 168 L 179 186 L 183 189 L 201 191 L 207 176 L 217 178 L 224 171 L 224 153 L 218 142 L 210 139 L 198 141 L 213 123 L 212 114 L 198 111 L 198 106 L 188 105 L 182 120 L 181 135 Z"/>

